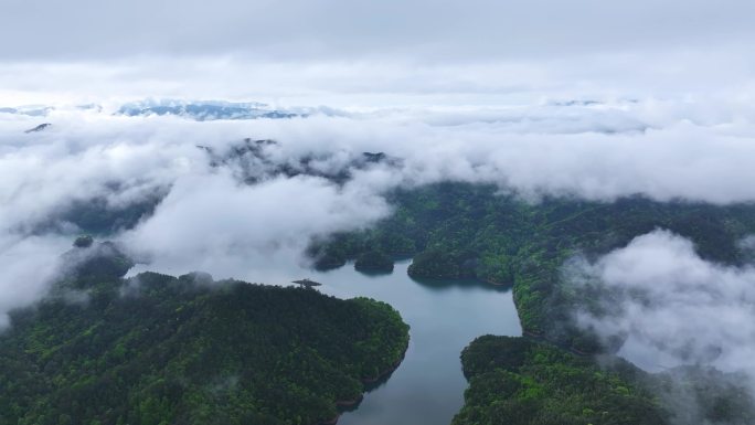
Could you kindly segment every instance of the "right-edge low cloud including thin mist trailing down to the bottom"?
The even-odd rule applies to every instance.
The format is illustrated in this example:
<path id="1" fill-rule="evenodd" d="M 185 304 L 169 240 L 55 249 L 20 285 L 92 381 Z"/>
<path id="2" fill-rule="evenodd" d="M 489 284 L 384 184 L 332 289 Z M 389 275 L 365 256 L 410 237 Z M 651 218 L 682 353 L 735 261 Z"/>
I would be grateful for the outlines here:
<path id="1" fill-rule="evenodd" d="M 651 389 L 673 423 L 747 421 L 737 417 L 747 417 L 755 394 L 755 266 L 708 262 L 691 241 L 656 230 L 593 263 L 573 258 L 563 272 L 577 294 L 591 288 L 577 325 L 606 341 L 619 337 L 618 355 L 662 372 Z"/>

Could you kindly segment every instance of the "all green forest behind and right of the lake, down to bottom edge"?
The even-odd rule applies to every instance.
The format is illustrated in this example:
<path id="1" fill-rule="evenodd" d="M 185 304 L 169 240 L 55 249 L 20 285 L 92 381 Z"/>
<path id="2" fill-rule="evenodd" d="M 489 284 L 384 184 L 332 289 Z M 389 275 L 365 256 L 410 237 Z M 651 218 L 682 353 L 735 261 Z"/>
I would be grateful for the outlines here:
<path id="1" fill-rule="evenodd" d="M 702 366 L 649 375 L 615 358 L 623 336 L 600 340 L 573 323 L 577 308 L 609 314 L 591 304 L 598 297 L 588 291 L 599 289 L 577 290 L 562 275 L 575 255 L 594 259 L 656 229 L 690 238 L 708 261 L 742 265 L 752 259 L 740 241 L 755 232 L 754 204 L 525 200 L 493 185 L 451 182 L 389 199 L 394 212 L 374 227 L 313 242 L 315 266 L 380 252 L 412 256 L 414 278 L 476 278 L 513 290 L 524 338 L 483 337 L 465 350 L 470 387 L 455 425 L 755 421 L 748 390 L 731 383 L 736 379 Z M 673 408 L 680 382 L 688 396 L 704 401 L 694 417 L 680 418 L 683 408 Z"/>

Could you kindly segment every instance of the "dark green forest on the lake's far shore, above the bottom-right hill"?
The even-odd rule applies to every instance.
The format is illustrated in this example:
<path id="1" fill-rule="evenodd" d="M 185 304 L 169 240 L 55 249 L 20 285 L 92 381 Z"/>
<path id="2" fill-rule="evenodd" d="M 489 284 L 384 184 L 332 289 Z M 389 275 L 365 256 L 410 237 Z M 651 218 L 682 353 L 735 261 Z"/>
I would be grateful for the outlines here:
<path id="1" fill-rule="evenodd" d="M 583 352 L 598 341 L 571 325 L 571 311 L 589 297 L 563 285 L 575 254 L 595 257 L 655 229 L 691 238 L 711 261 L 745 259 L 737 243 L 755 232 L 755 205 L 719 206 L 543 198 L 527 202 L 492 185 L 440 183 L 389 195 L 395 212 L 374 229 L 337 234 L 310 246 L 317 267 L 337 267 L 364 252 L 413 254 L 413 277 L 475 277 L 512 285 L 523 329 Z M 581 306 L 591 308 L 591 306 Z"/>

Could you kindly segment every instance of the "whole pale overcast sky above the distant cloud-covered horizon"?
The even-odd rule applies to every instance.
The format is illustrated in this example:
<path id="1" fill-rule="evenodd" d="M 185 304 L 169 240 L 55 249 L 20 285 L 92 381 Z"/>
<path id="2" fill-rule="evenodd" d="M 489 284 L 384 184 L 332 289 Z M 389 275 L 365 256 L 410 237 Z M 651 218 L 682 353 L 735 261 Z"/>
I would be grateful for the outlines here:
<path id="1" fill-rule="evenodd" d="M 2 0 L 0 96 L 371 106 L 741 93 L 753 17 L 747 0 Z"/>

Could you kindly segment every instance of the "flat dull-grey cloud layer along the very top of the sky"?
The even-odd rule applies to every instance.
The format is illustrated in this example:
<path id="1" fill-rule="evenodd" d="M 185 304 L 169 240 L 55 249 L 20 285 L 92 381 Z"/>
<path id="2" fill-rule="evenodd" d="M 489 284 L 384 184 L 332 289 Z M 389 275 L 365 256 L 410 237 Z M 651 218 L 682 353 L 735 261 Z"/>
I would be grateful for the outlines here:
<path id="1" fill-rule="evenodd" d="M 300 59 L 554 56 L 689 43 L 721 46 L 752 38 L 746 0 L 10 0 L 0 18 L 0 56 L 123 57 L 242 53 Z M 557 20 L 551 19 L 559 17 Z M 23 36 L 18 36 L 23 34 Z"/>

